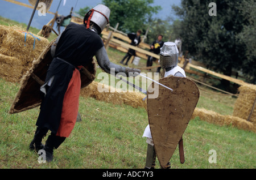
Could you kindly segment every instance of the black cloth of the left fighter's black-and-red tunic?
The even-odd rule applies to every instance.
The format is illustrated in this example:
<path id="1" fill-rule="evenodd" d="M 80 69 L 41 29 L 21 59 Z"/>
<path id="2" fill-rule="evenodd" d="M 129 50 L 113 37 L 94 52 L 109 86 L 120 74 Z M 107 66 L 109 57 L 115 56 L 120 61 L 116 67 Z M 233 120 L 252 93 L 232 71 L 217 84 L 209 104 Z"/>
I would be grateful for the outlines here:
<path id="1" fill-rule="evenodd" d="M 55 58 L 47 71 L 46 82 L 52 76 L 54 78 L 52 84 L 47 86 L 46 96 L 42 100 L 37 126 L 46 127 L 56 134 L 60 124 L 63 98 L 75 67 L 92 62 L 92 57 L 102 46 L 104 44 L 101 37 L 90 29 L 86 29 L 85 25 L 75 23 L 68 25 L 60 37 Z M 57 57 L 65 59 L 73 66 Z"/>

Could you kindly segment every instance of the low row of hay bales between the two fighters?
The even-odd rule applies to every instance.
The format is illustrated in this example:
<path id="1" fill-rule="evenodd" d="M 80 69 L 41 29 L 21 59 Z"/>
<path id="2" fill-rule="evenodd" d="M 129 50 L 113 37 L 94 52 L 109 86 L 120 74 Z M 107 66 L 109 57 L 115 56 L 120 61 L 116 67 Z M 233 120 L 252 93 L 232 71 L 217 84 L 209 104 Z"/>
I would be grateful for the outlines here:
<path id="1" fill-rule="evenodd" d="M 104 92 L 99 92 L 98 87 L 105 89 Z M 143 101 L 146 95 L 139 92 L 117 92 L 113 87 L 98 82 L 92 82 L 87 87 L 82 88 L 81 96 L 93 97 L 96 100 L 112 102 L 113 104 L 127 104 L 133 108 L 147 108 L 146 100 Z"/>

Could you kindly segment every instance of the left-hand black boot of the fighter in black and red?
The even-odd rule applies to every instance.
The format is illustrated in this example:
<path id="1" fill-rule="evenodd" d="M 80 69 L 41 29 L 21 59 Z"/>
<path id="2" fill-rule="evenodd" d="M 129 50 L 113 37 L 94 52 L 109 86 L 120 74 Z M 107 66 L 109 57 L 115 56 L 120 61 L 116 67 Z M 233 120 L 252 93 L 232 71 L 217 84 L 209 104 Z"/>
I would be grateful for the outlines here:
<path id="1" fill-rule="evenodd" d="M 44 148 L 44 145 L 42 144 L 42 140 L 44 136 L 46 136 L 48 132 L 47 128 L 36 128 L 34 139 L 30 143 L 30 150 L 38 152 L 40 149 Z"/>

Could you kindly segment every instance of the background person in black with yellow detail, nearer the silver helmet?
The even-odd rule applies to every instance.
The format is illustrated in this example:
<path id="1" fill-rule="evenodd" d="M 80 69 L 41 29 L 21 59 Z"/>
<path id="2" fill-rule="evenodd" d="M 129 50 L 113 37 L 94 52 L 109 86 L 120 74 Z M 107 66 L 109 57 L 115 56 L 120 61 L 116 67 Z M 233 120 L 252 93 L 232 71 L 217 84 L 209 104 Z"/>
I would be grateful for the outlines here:
<path id="1" fill-rule="evenodd" d="M 154 54 L 159 54 L 160 53 L 160 48 L 162 48 L 164 42 L 162 41 L 163 36 L 162 35 L 158 35 L 158 38 L 152 42 L 151 46 L 150 46 L 150 52 L 154 53 Z M 147 67 L 152 66 L 153 61 L 156 61 L 157 59 L 152 57 L 152 56 L 148 56 L 147 58 Z M 160 72 L 161 67 L 158 67 L 158 70 L 156 70 L 156 72 Z"/>

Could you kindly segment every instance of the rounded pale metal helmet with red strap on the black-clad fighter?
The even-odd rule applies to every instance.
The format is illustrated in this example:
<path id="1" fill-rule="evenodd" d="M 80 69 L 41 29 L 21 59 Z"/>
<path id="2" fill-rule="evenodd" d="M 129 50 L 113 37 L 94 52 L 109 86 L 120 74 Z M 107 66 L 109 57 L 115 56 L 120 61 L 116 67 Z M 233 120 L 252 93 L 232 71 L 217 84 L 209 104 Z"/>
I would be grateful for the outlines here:
<path id="1" fill-rule="evenodd" d="M 84 17 L 86 28 L 89 28 L 90 22 L 93 22 L 100 27 L 101 31 L 109 23 L 110 9 L 105 5 L 97 5 L 93 7 Z"/>

